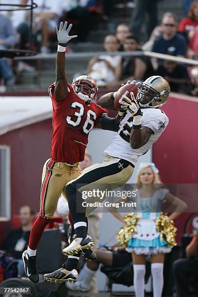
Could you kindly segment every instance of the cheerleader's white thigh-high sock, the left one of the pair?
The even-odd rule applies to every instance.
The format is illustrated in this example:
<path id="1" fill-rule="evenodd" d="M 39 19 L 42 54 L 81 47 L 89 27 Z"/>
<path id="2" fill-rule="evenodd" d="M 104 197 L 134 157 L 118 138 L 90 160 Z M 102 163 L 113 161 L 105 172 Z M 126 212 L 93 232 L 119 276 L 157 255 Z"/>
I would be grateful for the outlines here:
<path id="1" fill-rule="evenodd" d="M 145 264 L 133 264 L 133 285 L 136 297 L 144 297 Z"/>

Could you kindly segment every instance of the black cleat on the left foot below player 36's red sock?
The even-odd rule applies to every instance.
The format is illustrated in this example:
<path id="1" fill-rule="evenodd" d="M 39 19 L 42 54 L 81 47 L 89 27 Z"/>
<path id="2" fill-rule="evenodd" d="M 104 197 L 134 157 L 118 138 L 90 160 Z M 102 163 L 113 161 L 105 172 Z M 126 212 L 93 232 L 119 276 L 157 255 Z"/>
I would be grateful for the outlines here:
<path id="1" fill-rule="evenodd" d="M 22 259 L 27 278 L 33 282 L 38 282 L 39 275 L 36 268 L 36 256 L 30 257 L 27 250 L 25 250 L 22 254 Z"/>

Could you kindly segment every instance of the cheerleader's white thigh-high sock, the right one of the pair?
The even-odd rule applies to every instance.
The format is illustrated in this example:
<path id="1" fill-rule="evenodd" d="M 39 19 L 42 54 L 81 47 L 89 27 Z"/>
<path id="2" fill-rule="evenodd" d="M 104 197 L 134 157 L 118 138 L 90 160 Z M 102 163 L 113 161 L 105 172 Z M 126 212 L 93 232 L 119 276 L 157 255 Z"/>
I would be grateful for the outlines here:
<path id="1" fill-rule="evenodd" d="M 153 297 L 161 297 L 163 286 L 164 286 L 164 276 L 163 276 L 163 263 L 152 263 L 151 264 L 151 275 L 153 284 Z"/>

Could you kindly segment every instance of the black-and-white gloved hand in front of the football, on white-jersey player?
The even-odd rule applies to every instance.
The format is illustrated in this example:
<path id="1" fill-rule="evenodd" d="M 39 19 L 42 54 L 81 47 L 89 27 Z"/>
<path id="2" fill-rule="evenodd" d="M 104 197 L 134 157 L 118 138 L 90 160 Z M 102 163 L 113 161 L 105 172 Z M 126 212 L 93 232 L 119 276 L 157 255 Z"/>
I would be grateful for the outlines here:
<path id="1" fill-rule="evenodd" d="M 126 95 L 123 95 L 119 99 L 121 108 L 123 110 L 129 110 L 132 115 L 142 115 L 140 106 L 137 100 L 135 99 L 133 92 L 130 92 L 130 95 L 131 95 L 131 99 L 129 99 Z"/>

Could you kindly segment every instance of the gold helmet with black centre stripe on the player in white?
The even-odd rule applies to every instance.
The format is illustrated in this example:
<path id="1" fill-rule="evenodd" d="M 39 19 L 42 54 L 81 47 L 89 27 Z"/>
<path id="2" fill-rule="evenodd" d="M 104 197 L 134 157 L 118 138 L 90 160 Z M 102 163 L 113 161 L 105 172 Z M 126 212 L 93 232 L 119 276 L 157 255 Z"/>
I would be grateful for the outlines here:
<path id="1" fill-rule="evenodd" d="M 140 107 L 156 108 L 165 104 L 169 94 L 169 83 L 162 76 L 154 75 L 139 83 L 137 101 Z"/>

